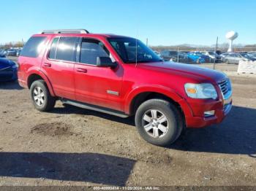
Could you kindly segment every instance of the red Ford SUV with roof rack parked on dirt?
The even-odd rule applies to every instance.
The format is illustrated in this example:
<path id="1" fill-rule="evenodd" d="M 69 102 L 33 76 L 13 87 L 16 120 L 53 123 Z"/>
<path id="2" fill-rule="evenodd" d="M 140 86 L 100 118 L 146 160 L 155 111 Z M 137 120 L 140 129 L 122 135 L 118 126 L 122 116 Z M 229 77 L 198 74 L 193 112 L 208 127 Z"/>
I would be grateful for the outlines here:
<path id="1" fill-rule="evenodd" d="M 119 117 L 135 115 L 143 139 L 171 144 L 184 128 L 222 122 L 232 106 L 219 71 L 162 61 L 138 39 L 86 30 L 42 31 L 18 58 L 18 81 L 36 109 L 56 100 Z"/>

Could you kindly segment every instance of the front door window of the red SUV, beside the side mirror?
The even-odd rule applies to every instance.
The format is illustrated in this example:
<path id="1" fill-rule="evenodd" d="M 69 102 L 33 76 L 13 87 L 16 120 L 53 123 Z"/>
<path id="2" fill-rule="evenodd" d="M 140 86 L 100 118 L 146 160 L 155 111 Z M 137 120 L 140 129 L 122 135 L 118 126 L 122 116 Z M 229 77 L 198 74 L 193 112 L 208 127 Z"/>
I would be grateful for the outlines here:
<path id="1" fill-rule="evenodd" d="M 95 39 L 83 39 L 80 48 L 80 63 L 97 64 L 97 57 L 109 57 L 102 42 Z"/>

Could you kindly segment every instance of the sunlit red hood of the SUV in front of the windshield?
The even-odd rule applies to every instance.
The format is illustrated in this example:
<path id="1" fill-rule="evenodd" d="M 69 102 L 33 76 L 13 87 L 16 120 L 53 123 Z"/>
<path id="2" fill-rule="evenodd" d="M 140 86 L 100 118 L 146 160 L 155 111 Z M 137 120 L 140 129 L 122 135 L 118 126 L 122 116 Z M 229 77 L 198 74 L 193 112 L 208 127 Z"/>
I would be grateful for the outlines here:
<path id="1" fill-rule="evenodd" d="M 188 77 L 197 81 L 210 81 L 214 84 L 226 78 L 226 75 L 221 71 L 206 69 L 200 66 L 192 66 L 186 63 L 173 62 L 157 62 L 157 63 L 139 63 L 138 67 L 150 69 L 154 71 L 174 74 L 178 76 Z"/>

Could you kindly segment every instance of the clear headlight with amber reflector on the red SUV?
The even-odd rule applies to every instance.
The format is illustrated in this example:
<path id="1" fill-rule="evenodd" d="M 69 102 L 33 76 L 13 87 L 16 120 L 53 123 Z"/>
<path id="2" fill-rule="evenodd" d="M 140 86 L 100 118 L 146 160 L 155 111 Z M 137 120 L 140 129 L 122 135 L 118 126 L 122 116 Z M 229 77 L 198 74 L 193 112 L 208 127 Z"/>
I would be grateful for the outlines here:
<path id="1" fill-rule="evenodd" d="M 203 84 L 185 84 L 185 90 L 187 95 L 190 98 L 199 98 L 199 99 L 207 99 L 207 98 L 217 98 L 217 91 L 214 85 L 203 83 Z"/>

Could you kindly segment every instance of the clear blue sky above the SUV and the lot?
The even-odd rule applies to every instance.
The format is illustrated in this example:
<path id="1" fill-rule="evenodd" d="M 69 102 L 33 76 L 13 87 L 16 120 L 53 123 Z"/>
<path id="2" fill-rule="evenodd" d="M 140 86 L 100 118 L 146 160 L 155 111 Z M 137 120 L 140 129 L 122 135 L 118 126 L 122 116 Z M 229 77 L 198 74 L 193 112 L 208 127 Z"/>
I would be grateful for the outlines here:
<path id="1" fill-rule="evenodd" d="M 255 0 L 12 0 L 0 3 L 0 44 L 26 42 L 44 29 L 86 28 L 150 45 L 256 44 Z"/>

